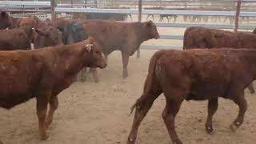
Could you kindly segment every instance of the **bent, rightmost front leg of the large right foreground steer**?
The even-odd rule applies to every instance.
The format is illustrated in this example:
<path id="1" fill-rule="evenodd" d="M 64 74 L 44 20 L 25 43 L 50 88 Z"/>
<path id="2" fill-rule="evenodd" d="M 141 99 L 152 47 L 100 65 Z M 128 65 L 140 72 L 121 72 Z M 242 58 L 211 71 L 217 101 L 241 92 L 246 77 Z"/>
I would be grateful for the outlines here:
<path id="1" fill-rule="evenodd" d="M 242 93 L 238 94 L 238 96 L 235 96 L 232 100 L 239 107 L 238 117 L 230 125 L 231 130 L 236 131 L 238 127 L 242 125 L 243 118 L 247 110 L 247 102 L 246 98 L 244 97 L 243 91 Z"/>

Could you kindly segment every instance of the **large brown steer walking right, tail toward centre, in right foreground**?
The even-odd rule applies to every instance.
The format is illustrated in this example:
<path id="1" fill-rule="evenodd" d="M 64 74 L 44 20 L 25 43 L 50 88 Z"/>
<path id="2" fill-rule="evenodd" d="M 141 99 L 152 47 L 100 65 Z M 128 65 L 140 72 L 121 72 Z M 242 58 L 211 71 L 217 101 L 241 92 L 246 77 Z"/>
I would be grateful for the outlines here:
<path id="1" fill-rule="evenodd" d="M 244 89 L 255 79 L 256 50 L 160 50 L 151 58 L 143 94 L 132 106 L 136 112 L 127 143 L 134 144 L 138 126 L 162 93 L 166 97 L 162 118 L 173 143 L 182 144 L 174 120 L 184 99 L 208 100 L 208 133 L 214 130 L 212 118 L 218 108 L 218 97 L 233 100 L 239 112 L 230 127 L 236 130 L 242 125 L 247 109 Z"/>

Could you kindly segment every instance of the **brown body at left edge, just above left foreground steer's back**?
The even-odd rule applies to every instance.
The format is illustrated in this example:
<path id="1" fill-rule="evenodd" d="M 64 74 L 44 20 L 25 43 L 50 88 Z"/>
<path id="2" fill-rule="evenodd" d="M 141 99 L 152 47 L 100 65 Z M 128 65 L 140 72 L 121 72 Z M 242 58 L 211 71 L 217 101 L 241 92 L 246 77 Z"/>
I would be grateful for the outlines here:
<path id="1" fill-rule="evenodd" d="M 30 50 L 32 26 L 0 30 L 0 50 Z"/>

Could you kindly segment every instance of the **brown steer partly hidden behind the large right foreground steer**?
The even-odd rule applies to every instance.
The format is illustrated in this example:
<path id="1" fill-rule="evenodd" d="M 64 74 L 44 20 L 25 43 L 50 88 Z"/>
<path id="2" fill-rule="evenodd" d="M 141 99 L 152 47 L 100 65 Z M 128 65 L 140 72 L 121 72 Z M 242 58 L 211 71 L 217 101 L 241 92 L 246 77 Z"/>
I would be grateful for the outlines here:
<path id="1" fill-rule="evenodd" d="M 184 33 L 183 50 L 222 47 L 256 49 L 256 35 L 254 32 L 231 32 L 200 26 L 191 26 Z M 251 94 L 255 93 L 253 84 L 248 89 Z"/>

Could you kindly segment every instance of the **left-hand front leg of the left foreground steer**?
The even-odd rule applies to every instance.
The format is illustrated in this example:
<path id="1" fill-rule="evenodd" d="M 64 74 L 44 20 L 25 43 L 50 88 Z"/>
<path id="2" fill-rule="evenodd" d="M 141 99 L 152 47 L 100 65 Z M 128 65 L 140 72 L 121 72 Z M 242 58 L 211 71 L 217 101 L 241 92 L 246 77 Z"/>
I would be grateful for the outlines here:
<path id="1" fill-rule="evenodd" d="M 46 113 L 47 113 L 48 99 L 46 95 L 37 97 L 37 114 L 38 114 L 38 130 L 42 140 L 49 138 L 46 134 Z"/>

